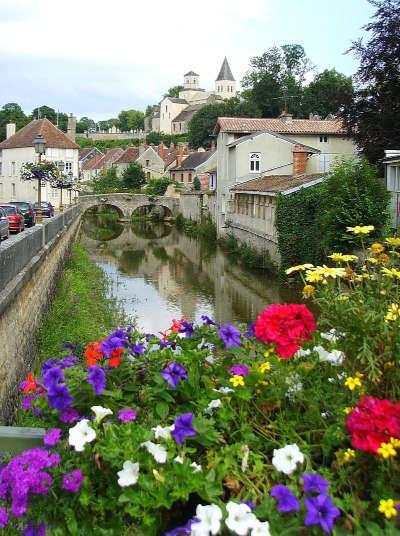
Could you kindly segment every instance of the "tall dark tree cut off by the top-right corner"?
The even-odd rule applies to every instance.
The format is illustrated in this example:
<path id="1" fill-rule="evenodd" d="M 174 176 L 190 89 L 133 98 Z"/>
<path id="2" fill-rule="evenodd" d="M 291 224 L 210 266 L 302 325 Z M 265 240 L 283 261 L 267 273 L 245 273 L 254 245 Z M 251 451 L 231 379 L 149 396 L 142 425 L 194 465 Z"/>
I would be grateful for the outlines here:
<path id="1" fill-rule="evenodd" d="M 370 162 L 400 147 L 400 0 L 369 0 L 376 7 L 364 29 L 369 40 L 353 42 L 360 60 L 356 91 L 343 111 L 348 133 Z"/>

